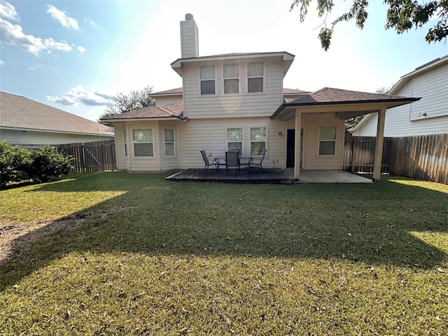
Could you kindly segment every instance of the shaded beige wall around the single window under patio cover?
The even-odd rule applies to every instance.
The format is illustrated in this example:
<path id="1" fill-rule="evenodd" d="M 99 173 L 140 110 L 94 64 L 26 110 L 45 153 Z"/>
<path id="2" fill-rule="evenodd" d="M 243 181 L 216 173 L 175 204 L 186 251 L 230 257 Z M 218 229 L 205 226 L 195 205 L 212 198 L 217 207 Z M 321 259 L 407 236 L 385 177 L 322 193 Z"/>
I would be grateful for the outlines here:
<path id="1" fill-rule="evenodd" d="M 335 155 L 318 155 L 318 132 L 320 126 L 336 128 Z M 342 169 L 344 151 L 344 120 L 334 118 L 333 113 L 302 113 L 303 153 L 302 169 Z"/>

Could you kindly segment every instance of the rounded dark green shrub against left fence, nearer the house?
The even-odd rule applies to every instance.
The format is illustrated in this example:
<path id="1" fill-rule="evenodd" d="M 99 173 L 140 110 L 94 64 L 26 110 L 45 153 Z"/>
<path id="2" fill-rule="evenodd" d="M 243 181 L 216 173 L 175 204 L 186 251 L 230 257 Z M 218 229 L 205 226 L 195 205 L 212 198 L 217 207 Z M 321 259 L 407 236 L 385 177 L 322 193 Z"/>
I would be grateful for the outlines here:
<path id="1" fill-rule="evenodd" d="M 45 146 L 31 151 L 32 164 L 28 167 L 28 176 L 36 182 L 48 182 L 54 177 L 69 174 L 73 166 L 71 157 L 58 153 L 55 147 Z"/>

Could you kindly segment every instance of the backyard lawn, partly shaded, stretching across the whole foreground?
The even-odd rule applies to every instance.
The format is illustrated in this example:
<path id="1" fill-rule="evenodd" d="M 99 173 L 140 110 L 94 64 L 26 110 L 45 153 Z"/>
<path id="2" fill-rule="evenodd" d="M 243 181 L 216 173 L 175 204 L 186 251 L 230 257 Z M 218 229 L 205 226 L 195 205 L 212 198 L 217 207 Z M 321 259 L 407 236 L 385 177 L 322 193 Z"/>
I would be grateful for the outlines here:
<path id="1" fill-rule="evenodd" d="M 164 178 L 1 191 L 0 335 L 447 335 L 448 186 Z"/>

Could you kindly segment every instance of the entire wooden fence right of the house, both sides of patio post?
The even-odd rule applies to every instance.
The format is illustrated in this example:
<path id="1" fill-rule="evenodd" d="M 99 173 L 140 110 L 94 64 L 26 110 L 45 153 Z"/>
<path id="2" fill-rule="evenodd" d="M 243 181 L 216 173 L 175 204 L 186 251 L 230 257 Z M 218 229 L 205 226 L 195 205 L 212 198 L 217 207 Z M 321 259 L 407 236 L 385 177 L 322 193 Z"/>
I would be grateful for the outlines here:
<path id="1" fill-rule="evenodd" d="M 373 172 L 375 137 L 345 141 L 344 170 Z M 448 134 L 384 138 L 381 172 L 448 184 Z"/>

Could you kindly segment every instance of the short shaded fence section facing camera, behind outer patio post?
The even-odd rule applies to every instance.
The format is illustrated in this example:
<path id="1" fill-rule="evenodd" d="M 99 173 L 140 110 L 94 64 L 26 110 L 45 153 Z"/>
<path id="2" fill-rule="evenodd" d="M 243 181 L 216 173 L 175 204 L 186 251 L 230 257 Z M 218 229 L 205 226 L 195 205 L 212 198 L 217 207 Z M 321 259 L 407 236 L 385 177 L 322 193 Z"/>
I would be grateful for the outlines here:
<path id="1" fill-rule="evenodd" d="M 346 172 L 373 172 L 376 137 L 353 137 L 344 144 L 344 166 Z M 384 138 L 381 173 L 388 173 L 391 162 L 392 138 Z"/>

